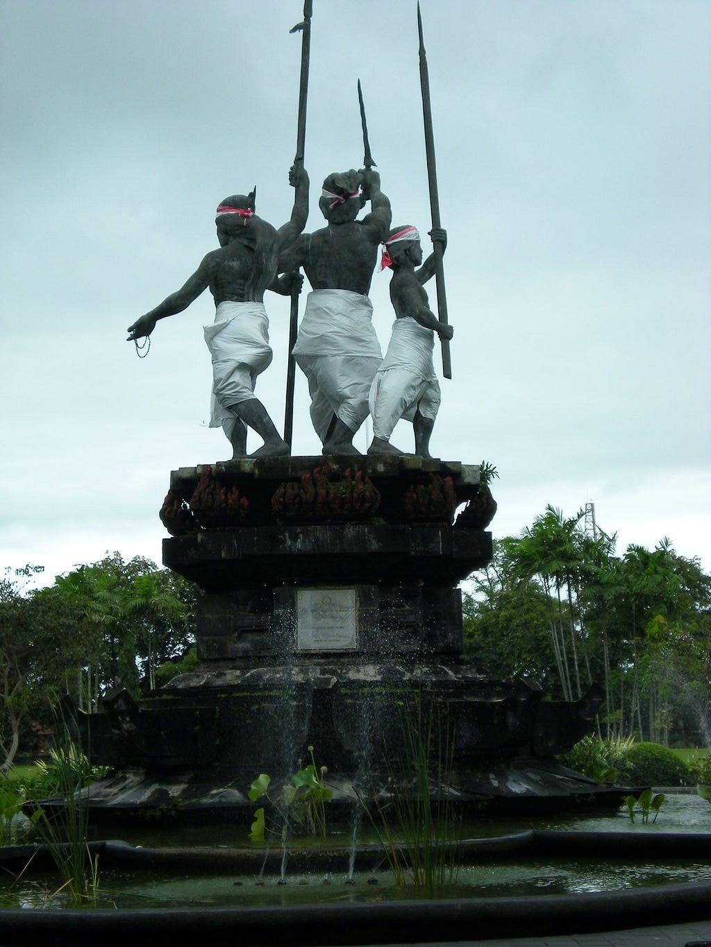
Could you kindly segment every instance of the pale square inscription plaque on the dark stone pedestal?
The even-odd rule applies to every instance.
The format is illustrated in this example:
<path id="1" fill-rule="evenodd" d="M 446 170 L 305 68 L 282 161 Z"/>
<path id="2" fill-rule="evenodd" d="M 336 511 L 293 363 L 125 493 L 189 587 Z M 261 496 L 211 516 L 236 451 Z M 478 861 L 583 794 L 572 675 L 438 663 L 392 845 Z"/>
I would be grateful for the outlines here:
<path id="1" fill-rule="evenodd" d="M 356 648 L 356 589 L 298 589 L 297 648 L 300 651 Z"/>

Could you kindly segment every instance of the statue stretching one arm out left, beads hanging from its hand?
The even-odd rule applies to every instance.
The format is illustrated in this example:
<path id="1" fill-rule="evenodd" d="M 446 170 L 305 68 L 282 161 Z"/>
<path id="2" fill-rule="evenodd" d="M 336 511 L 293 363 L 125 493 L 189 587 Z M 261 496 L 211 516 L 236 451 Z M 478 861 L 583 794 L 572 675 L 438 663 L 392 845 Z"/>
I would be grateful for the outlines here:
<path id="1" fill-rule="evenodd" d="M 289 171 L 296 188 L 291 219 L 279 230 L 254 213 L 254 191 L 226 198 L 217 208 L 218 250 L 212 250 L 188 282 L 150 313 L 130 326 L 128 341 L 149 336 L 158 319 L 181 313 L 210 287 L 215 301 L 215 321 L 205 326 L 205 341 L 212 356 L 210 427 L 222 426 L 232 444 L 233 459 L 246 456 L 246 428 L 264 439 L 252 456 L 282 456 L 288 444 L 277 431 L 264 404 L 254 395 L 257 376 L 269 366 L 269 320 L 264 310 L 264 290 L 288 295 L 301 277 L 286 274 L 277 279 L 282 250 L 303 230 L 308 216 L 308 174 L 301 163 Z"/>

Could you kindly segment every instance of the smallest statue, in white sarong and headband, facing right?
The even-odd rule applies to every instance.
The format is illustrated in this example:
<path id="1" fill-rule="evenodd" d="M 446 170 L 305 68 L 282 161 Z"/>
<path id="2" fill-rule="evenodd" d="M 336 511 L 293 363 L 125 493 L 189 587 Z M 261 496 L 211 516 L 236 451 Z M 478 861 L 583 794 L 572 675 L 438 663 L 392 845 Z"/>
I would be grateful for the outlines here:
<path id="1" fill-rule="evenodd" d="M 430 232 L 432 242 L 447 247 L 447 231 L 442 227 Z M 450 339 L 451 326 L 440 322 L 428 307 L 423 289 L 434 275 L 434 255 L 422 263 L 422 246 L 416 227 L 395 227 L 384 241 L 382 265 L 392 266 L 390 297 L 397 318 L 382 365 L 371 385 L 370 408 L 373 415 L 373 443 L 369 454 L 402 454 L 390 438 L 401 418 L 412 421 L 415 454 L 429 455 L 429 437 L 440 405 L 440 385 L 432 362 L 434 333 Z M 415 271 L 415 267 L 420 269 Z"/>

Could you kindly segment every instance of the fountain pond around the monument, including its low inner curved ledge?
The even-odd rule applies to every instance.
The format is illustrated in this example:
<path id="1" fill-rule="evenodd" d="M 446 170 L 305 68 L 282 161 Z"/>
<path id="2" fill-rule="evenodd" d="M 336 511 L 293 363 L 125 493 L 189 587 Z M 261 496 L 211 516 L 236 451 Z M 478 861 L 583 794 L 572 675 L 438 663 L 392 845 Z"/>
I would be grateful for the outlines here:
<path id="1" fill-rule="evenodd" d="M 656 824 L 625 811 L 523 820 L 482 819 L 463 827 L 460 867 L 436 889 L 395 884 L 373 831 L 327 843 L 295 839 L 283 852 L 250 845 L 242 826 L 132 828 L 125 843 L 99 848 L 96 906 L 269 907 L 403 900 L 538 898 L 668 884 L 711 884 L 711 806 L 694 794 L 668 795 Z M 684 841 L 685 839 L 685 841 Z M 468 840 L 468 841 L 466 841 Z M 104 846 L 101 849 L 101 846 Z M 8 850 L 8 849 L 6 849 Z M 60 908 L 64 895 L 46 872 L 6 868 L 0 908 Z M 19 879 L 16 877 L 21 875 Z"/>

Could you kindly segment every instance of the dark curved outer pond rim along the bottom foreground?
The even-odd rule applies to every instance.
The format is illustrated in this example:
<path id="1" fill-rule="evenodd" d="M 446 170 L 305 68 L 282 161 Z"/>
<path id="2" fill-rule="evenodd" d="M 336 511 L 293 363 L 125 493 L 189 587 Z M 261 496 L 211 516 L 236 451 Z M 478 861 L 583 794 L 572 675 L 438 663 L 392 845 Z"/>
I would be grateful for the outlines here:
<path id="1" fill-rule="evenodd" d="M 4 947 L 53 947 L 99 938 L 102 947 L 127 938 L 153 944 L 224 938 L 250 945 L 427 943 L 531 938 L 664 926 L 669 918 L 708 920 L 711 884 L 670 884 L 544 898 L 471 898 L 462 901 L 369 902 L 241 908 L 139 908 L 135 910 L 2 910 Z M 221 939 L 219 942 L 223 942 Z"/>

